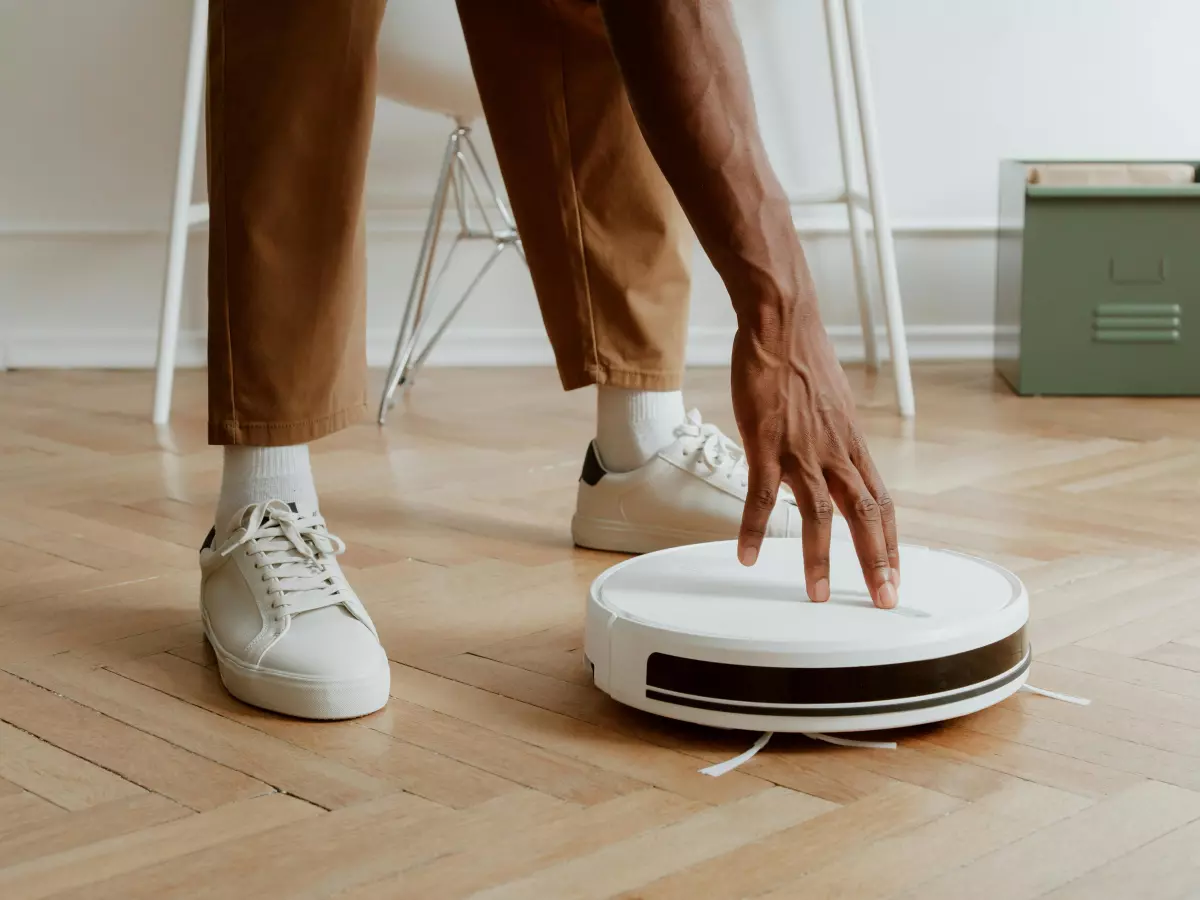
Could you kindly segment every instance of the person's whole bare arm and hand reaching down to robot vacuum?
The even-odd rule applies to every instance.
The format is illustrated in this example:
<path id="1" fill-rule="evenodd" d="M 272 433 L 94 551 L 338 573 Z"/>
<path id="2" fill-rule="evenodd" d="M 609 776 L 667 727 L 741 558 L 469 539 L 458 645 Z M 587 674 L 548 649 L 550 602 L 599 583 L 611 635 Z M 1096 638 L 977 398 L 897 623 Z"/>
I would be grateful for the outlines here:
<path id="1" fill-rule="evenodd" d="M 746 565 L 758 558 L 786 481 L 804 520 L 809 596 L 829 599 L 836 503 L 871 599 L 890 608 L 900 563 L 892 502 L 816 312 L 792 204 L 755 116 L 732 4 L 600 0 L 600 11 L 647 146 L 738 317 L 733 410 L 750 466 L 738 557 Z"/>

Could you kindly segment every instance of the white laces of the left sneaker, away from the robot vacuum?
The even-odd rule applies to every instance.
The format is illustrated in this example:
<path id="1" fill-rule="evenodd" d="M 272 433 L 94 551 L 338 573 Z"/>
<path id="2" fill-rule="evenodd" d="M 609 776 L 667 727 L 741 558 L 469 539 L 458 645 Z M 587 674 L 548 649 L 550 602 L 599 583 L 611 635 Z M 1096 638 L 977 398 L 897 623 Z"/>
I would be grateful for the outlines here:
<path id="1" fill-rule="evenodd" d="M 320 516 L 293 512 L 282 500 L 248 506 L 242 526 L 221 546 L 226 557 L 244 544 L 250 552 L 262 554 L 254 564 L 270 582 L 268 595 L 275 608 L 288 614 L 336 606 L 346 596 L 329 565 L 346 551 L 346 545 L 325 527 Z"/>

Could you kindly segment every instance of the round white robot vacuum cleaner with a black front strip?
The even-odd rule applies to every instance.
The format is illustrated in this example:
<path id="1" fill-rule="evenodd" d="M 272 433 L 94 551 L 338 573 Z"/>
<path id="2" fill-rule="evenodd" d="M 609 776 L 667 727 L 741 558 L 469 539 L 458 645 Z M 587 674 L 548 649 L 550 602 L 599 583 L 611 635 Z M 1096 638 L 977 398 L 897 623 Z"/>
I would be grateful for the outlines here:
<path id="1" fill-rule="evenodd" d="M 877 610 L 854 547 L 835 536 L 830 599 L 804 592 L 800 541 L 758 563 L 721 541 L 635 557 L 588 598 L 596 686 L 648 713 L 724 728 L 845 732 L 952 719 L 1025 683 L 1028 595 L 998 565 L 901 545 L 900 602 Z"/>

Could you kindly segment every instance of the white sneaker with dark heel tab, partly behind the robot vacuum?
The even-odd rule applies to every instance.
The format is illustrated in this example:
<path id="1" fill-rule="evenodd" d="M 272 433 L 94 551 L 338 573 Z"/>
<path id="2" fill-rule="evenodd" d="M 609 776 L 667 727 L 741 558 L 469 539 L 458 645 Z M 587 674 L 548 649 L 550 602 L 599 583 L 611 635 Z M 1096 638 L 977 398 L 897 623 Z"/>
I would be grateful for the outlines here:
<path id="1" fill-rule="evenodd" d="M 749 470 L 745 452 L 692 409 L 676 440 L 640 469 L 607 472 L 588 446 L 571 534 L 590 550 L 649 553 L 666 547 L 731 540 L 742 527 Z M 780 488 L 768 538 L 798 538 L 800 514 Z"/>

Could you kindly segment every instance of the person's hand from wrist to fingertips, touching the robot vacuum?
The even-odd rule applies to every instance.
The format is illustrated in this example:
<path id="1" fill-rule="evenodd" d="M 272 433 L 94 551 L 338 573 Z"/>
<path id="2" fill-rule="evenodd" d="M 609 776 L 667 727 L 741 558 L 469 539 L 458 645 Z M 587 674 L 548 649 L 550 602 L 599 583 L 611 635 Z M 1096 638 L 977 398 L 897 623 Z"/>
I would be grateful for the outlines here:
<path id="1" fill-rule="evenodd" d="M 754 565 L 780 482 L 803 520 L 804 581 L 829 599 L 833 504 L 850 523 L 875 605 L 896 605 L 900 554 L 895 511 L 854 424 L 854 400 L 815 307 L 764 314 L 733 342 L 733 412 L 750 466 L 738 559 Z"/>

